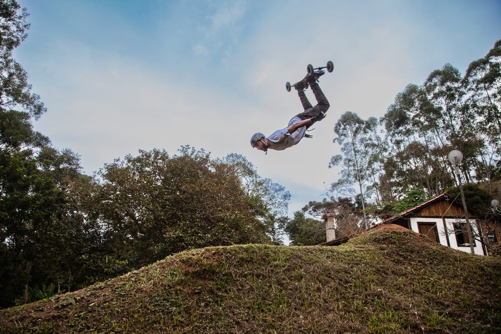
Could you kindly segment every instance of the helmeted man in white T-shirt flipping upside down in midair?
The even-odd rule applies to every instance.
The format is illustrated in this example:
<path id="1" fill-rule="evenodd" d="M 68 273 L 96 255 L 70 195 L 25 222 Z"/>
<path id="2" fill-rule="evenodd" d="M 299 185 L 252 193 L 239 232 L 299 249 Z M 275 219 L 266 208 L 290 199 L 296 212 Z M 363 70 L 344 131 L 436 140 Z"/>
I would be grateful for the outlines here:
<path id="1" fill-rule="evenodd" d="M 286 128 L 276 130 L 268 137 L 261 132 L 255 133 L 250 138 L 250 145 L 252 145 L 252 147 L 264 151 L 267 154 L 268 149 L 279 151 L 285 150 L 299 143 L 303 137 L 311 137 L 311 135 L 306 133 L 306 130 L 315 122 L 323 120 L 330 106 L 329 101 L 327 101 L 325 95 L 318 86 L 318 77 L 322 74 L 324 74 L 323 71 L 314 72 L 313 75 L 307 75 L 308 84 L 295 86 L 304 111 L 294 116 L 289 121 Z M 304 90 L 308 89 L 308 86 L 311 87 L 317 99 L 317 105 L 315 106 L 312 106 L 304 93 Z"/>

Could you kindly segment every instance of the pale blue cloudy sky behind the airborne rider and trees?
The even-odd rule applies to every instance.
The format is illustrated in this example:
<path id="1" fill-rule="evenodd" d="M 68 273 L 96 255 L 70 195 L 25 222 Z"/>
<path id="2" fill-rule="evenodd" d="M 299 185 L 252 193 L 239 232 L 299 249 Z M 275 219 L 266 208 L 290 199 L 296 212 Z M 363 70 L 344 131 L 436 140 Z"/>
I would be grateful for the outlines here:
<path id="1" fill-rule="evenodd" d="M 337 180 L 341 114 L 379 118 L 408 84 L 447 63 L 464 73 L 501 38 L 499 0 L 18 1 L 31 29 L 15 58 L 48 110 L 35 129 L 86 174 L 140 149 L 238 153 L 291 192 L 291 213 Z M 329 60 L 314 138 L 250 147 L 302 111 L 285 82 Z"/>

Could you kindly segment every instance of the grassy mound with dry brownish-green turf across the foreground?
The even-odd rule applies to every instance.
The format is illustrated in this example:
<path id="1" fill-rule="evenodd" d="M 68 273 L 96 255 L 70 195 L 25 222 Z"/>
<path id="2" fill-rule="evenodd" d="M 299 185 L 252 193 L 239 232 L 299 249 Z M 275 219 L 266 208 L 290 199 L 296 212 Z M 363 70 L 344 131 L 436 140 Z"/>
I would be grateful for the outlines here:
<path id="1" fill-rule="evenodd" d="M 1 310 L 0 332 L 495 333 L 501 258 L 398 226 L 337 247 L 208 247 Z"/>

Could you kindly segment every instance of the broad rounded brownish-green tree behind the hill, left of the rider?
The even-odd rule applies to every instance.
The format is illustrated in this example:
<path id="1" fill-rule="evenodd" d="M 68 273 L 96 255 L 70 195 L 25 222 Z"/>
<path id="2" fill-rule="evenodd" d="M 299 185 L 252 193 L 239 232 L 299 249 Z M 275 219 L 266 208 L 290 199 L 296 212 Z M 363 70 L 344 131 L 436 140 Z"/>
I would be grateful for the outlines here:
<path id="1" fill-rule="evenodd" d="M 232 166 L 203 150 L 140 151 L 97 173 L 93 217 L 110 254 L 137 268 L 190 248 L 269 242 Z"/>

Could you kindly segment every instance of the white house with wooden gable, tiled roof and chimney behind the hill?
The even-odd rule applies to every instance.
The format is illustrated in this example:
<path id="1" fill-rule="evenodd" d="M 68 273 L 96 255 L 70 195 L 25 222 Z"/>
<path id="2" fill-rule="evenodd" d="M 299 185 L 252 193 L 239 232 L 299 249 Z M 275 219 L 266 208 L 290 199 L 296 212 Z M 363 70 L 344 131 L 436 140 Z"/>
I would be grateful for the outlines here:
<path id="1" fill-rule="evenodd" d="M 478 239 L 482 236 L 486 243 L 497 246 L 501 234 L 499 231 L 486 233 L 482 231 L 482 227 L 479 233 L 475 215 L 468 212 L 468 218 L 474 239 L 475 254 L 488 255 L 487 248 L 481 242 L 475 241 L 475 237 Z M 329 231 L 333 228 L 332 215 L 326 214 L 324 219 L 326 230 Z M 385 219 L 371 228 L 382 224 L 400 225 L 416 233 L 424 234 L 444 246 L 471 253 L 463 207 L 453 202 L 447 193 L 442 193 L 429 201 Z M 350 237 L 327 239 L 327 242 L 322 245 L 339 245 L 349 239 Z"/>

